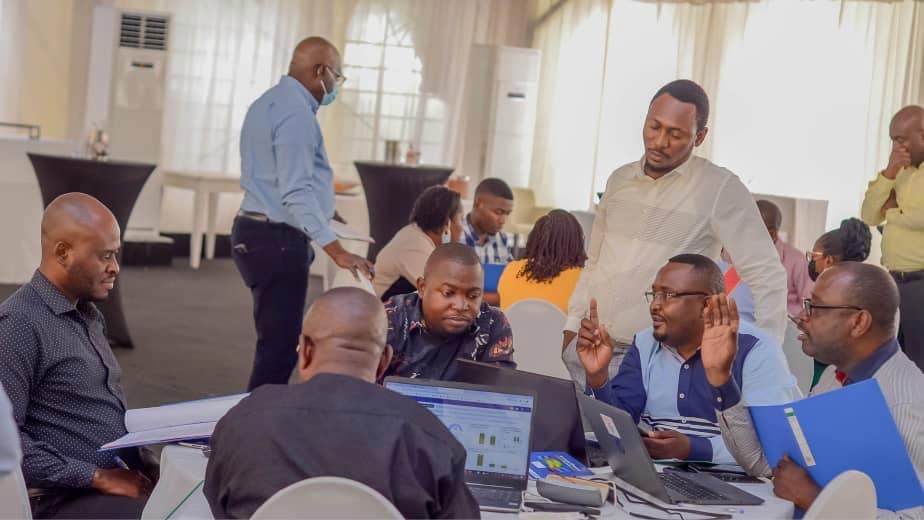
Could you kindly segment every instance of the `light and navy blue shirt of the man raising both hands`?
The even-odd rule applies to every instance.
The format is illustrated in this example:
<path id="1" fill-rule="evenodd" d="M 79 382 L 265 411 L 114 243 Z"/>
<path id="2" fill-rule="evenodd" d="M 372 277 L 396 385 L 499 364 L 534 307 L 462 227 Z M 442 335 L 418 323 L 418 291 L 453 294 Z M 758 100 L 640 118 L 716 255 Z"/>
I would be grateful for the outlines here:
<path id="1" fill-rule="evenodd" d="M 746 322 L 739 326 L 732 375 L 753 402 L 782 404 L 798 395 L 780 344 Z M 592 393 L 654 430 L 687 435 L 690 460 L 734 462 L 722 442 L 715 393 L 699 351 L 684 360 L 672 347 L 655 340 L 651 328 L 645 329 L 635 335 L 616 377 Z"/>

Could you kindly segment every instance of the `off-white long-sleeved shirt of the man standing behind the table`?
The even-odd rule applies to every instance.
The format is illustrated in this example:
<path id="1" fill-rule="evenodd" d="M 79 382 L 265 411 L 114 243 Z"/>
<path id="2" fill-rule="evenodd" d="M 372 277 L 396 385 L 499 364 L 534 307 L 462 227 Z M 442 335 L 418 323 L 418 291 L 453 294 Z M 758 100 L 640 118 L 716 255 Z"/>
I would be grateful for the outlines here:
<path id="1" fill-rule="evenodd" d="M 620 167 L 597 207 L 565 330 L 580 328 L 596 298 L 610 336 L 631 343 L 651 325 L 644 293 L 668 259 L 698 253 L 718 261 L 723 245 L 754 294 L 756 325 L 782 341 L 786 271 L 741 180 L 695 156 L 659 179 L 645 175 L 642 161 Z"/>

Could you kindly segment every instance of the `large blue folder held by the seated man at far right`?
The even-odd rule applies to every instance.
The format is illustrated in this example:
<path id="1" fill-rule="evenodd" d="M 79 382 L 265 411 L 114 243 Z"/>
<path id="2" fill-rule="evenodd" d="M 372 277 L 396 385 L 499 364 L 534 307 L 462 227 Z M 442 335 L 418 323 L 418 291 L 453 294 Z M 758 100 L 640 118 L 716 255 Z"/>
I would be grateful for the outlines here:
<path id="1" fill-rule="evenodd" d="M 924 489 L 875 379 L 750 410 L 770 467 L 789 454 L 822 487 L 855 469 L 873 480 L 880 509 L 898 511 L 924 504 Z M 805 455 L 814 459 L 814 465 L 806 464 L 797 441 L 799 430 L 808 447 Z"/>

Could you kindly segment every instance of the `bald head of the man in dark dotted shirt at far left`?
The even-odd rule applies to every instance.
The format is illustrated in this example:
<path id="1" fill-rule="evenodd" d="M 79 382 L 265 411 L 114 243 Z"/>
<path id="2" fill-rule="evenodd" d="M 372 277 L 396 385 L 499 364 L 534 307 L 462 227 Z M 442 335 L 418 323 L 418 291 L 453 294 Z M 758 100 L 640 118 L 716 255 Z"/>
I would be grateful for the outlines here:
<path id="1" fill-rule="evenodd" d="M 66 193 L 42 215 L 39 270 L 66 297 L 104 300 L 119 273 L 121 230 L 109 208 L 84 193 Z"/>

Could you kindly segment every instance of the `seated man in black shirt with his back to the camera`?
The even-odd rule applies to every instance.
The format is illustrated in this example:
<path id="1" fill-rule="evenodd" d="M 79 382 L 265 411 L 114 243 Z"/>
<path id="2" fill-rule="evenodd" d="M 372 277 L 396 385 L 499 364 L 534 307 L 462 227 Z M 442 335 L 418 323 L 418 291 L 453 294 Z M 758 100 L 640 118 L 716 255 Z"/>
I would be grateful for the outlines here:
<path id="1" fill-rule="evenodd" d="M 373 295 L 333 289 L 299 338 L 304 383 L 263 385 L 215 428 L 204 493 L 216 518 L 249 518 L 280 489 L 335 476 L 381 493 L 406 518 L 476 518 L 465 449 L 412 399 L 374 383 L 391 361 Z"/>

